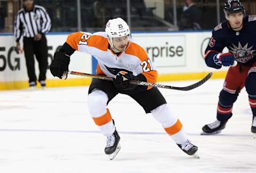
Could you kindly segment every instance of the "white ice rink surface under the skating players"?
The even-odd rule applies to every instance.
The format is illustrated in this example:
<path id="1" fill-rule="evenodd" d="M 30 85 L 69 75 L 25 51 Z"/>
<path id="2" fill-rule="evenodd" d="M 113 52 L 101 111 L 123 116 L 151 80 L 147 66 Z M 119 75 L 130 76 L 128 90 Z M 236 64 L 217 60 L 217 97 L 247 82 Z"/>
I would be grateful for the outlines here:
<path id="1" fill-rule="evenodd" d="M 203 125 L 215 120 L 222 83 L 210 80 L 186 92 L 160 89 L 198 146 L 200 159 L 183 153 L 129 96 L 118 94 L 108 106 L 121 136 L 121 151 L 110 161 L 104 153 L 106 137 L 87 108 L 88 87 L 2 91 L 0 172 L 256 172 L 256 139 L 245 89 L 226 129 L 215 136 L 199 135 Z"/>

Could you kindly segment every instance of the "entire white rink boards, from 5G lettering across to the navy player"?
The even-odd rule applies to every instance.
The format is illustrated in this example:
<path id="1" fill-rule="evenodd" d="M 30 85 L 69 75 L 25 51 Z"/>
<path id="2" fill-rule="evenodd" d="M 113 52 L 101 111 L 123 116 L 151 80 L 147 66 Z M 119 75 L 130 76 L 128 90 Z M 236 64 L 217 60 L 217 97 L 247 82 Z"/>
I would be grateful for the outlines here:
<path id="1" fill-rule="evenodd" d="M 214 71 L 214 69 L 206 67 L 203 58 L 203 52 L 209 42 L 211 32 L 154 32 L 133 34 L 132 36 L 148 51 L 149 58 L 156 65 L 159 74 Z M 57 48 L 65 43 L 67 35 L 46 35 L 46 37 L 50 47 L 49 56 L 53 56 Z M 0 36 L 0 69 L 3 68 L 4 61 L 8 63 L 9 51 L 11 52 L 10 63 L 13 66 L 17 65 L 17 62 L 20 64 L 19 69 L 14 71 L 6 64 L 6 68 L 0 71 L 0 81 L 28 80 L 25 57 L 23 54 L 12 52 L 13 46 L 15 46 L 13 36 Z M 37 66 L 36 63 L 38 74 Z M 91 55 L 75 52 L 71 56 L 69 69 L 91 73 L 93 70 Z M 47 79 L 53 79 L 50 70 L 46 75 Z M 78 77 L 70 75 L 69 78 Z"/>

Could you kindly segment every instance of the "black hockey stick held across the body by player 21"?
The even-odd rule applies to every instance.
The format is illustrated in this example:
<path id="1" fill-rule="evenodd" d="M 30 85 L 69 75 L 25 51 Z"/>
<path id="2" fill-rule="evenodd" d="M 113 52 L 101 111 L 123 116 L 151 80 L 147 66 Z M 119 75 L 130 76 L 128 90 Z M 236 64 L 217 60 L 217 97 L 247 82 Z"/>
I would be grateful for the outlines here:
<path id="1" fill-rule="evenodd" d="M 91 77 L 91 78 L 96 78 L 96 79 L 113 81 L 113 78 L 110 78 L 107 76 L 92 75 L 89 73 L 83 73 L 83 72 L 77 72 L 77 71 L 68 71 L 67 73 L 70 75 L 85 76 L 85 77 Z M 198 86 L 201 86 L 202 84 L 204 84 L 207 80 L 209 80 L 211 78 L 211 76 L 212 76 L 212 72 L 208 73 L 207 76 L 205 76 L 202 80 L 198 81 L 197 83 L 186 86 L 186 87 L 174 87 L 174 86 L 168 86 L 168 85 L 163 85 L 163 84 L 147 83 L 146 81 L 139 81 L 139 80 L 131 80 L 131 81 L 129 81 L 129 83 L 135 84 L 135 85 L 153 86 L 153 87 L 167 88 L 167 89 L 191 90 L 191 89 L 197 88 Z M 63 78 L 65 78 L 65 77 L 63 77 Z"/>

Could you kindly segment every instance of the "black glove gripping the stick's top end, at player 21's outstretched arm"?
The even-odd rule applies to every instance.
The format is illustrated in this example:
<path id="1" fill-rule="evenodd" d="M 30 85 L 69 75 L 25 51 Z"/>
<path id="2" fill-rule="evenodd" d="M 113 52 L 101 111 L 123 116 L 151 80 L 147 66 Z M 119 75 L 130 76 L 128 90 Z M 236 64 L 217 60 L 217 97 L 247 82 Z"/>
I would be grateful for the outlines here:
<path id="1" fill-rule="evenodd" d="M 63 52 L 55 52 L 53 56 L 52 63 L 50 65 L 50 71 L 53 76 L 57 76 L 62 79 L 64 72 L 68 71 L 68 65 L 70 62 L 70 57 L 65 55 Z M 67 79 L 68 74 L 66 74 Z"/>

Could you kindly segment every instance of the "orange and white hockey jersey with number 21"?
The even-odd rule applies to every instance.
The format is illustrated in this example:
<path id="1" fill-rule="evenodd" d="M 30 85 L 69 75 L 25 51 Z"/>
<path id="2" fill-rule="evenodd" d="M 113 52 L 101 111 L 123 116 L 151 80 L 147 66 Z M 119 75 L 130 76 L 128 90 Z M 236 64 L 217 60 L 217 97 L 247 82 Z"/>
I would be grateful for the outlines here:
<path id="1" fill-rule="evenodd" d="M 86 52 L 98 60 L 97 73 L 115 77 L 122 69 L 131 71 L 134 76 L 142 73 L 148 83 L 156 83 L 157 71 L 145 49 L 131 39 L 124 52 L 117 55 L 109 48 L 106 32 L 75 32 L 66 40 L 74 50 Z"/>

